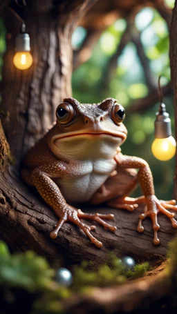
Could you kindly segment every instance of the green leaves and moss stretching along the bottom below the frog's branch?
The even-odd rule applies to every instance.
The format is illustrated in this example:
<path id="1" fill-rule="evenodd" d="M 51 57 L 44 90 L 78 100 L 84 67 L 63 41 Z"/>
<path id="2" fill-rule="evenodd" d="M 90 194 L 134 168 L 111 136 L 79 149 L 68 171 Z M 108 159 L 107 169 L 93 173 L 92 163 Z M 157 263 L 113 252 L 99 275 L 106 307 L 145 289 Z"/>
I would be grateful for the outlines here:
<path id="1" fill-rule="evenodd" d="M 6 244 L 1 241 L 0 312 L 11 313 L 15 306 L 20 311 L 20 308 L 26 306 L 26 313 L 31 314 L 62 313 L 61 300 L 70 297 L 72 293 L 89 293 L 89 289 L 94 286 L 117 286 L 127 278 L 142 276 L 148 269 L 147 263 L 144 263 L 129 271 L 115 255 L 110 256 L 109 264 L 93 271 L 91 263 L 82 262 L 81 266 L 73 268 L 73 284 L 66 288 L 55 281 L 55 270 L 50 268 L 44 257 L 32 251 L 10 254 Z"/>

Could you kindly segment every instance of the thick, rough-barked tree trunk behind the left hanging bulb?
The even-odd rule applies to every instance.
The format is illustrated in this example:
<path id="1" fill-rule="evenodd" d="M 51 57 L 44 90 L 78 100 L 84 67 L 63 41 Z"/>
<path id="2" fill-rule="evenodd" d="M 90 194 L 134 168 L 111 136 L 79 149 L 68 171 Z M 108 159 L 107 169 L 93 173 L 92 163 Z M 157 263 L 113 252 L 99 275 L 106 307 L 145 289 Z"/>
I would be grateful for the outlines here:
<path id="1" fill-rule="evenodd" d="M 3 127 L 17 163 L 53 124 L 59 102 L 71 97 L 71 35 L 82 14 L 95 1 L 62 1 L 55 8 L 53 1 L 28 2 L 24 20 L 33 56 L 29 70 L 18 70 L 12 63 L 20 22 L 12 12 L 5 19 L 7 51 L 1 95 L 8 117 Z"/>

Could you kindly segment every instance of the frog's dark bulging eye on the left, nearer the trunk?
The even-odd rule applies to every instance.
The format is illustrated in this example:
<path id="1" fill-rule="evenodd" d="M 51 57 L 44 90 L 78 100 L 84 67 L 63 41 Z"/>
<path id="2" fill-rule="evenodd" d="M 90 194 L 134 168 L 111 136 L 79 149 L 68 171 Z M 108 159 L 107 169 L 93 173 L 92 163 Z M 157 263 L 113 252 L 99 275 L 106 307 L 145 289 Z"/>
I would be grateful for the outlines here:
<path id="1" fill-rule="evenodd" d="M 60 124 L 68 124 L 75 116 L 74 108 L 71 104 L 62 103 L 57 107 L 56 110 L 57 121 Z"/>

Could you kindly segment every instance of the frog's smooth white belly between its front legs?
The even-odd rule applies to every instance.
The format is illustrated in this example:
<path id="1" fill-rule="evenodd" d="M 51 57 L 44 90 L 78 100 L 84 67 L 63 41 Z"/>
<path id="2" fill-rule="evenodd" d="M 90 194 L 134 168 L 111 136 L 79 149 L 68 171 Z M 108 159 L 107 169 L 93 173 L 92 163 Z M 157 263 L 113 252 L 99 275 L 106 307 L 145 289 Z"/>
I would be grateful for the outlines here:
<path id="1" fill-rule="evenodd" d="M 78 176 L 67 175 L 55 179 L 55 182 L 59 186 L 62 195 L 64 195 L 66 202 L 88 202 L 115 168 L 116 163 L 113 159 L 82 161 L 80 165 L 77 165 L 76 171 L 78 172 Z"/>

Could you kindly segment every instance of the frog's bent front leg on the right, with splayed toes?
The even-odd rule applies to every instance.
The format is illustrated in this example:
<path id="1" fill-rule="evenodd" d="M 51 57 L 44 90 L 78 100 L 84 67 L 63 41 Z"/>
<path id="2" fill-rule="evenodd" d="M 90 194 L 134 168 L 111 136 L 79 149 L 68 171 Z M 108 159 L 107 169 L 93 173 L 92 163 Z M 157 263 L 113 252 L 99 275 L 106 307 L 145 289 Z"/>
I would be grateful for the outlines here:
<path id="1" fill-rule="evenodd" d="M 138 181 L 140 183 L 140 187 L 143 193 L 143 197 L 138 197 L 136 199 L 131 199 L 129 197 L 121 197 L 119 199 L 115 199 L 109 202 L 109 205 L 115 206 L 115 204 L 119 202 L 119 204 L 140 204 L 145 202 L 147 205 L 145 213 L 140 215 L 140 221 L 138 223 L 138 231 L 140 233 L 143 232 L 144 228 L 142 226 L 142 220 L 146 217 L 150 217 L 153 224 L 154 237 L 153 243 L 160 244 L 160 240 L 158 239 L 158 230 L 160 228 L 158 224 L 157 215 L 158 213 L 163 213 L 171 220 L 171 224 L 174 228 L 177 228 L 176 219 L 174 219 L 174 213 L 171 213 L 168 209 L 177 210 L 175 204 L 176 201 L 173 199 L 171 201 L 160 201 L 155 195 L 154 187 L 153 187 L 153 177 L 151 174 L 151 170 L 147 162 L 138 157 L 131 157 L 122 154 L 118 154 L 115 157 L 115 161 L 120 168 L 138 168 Z"/>

